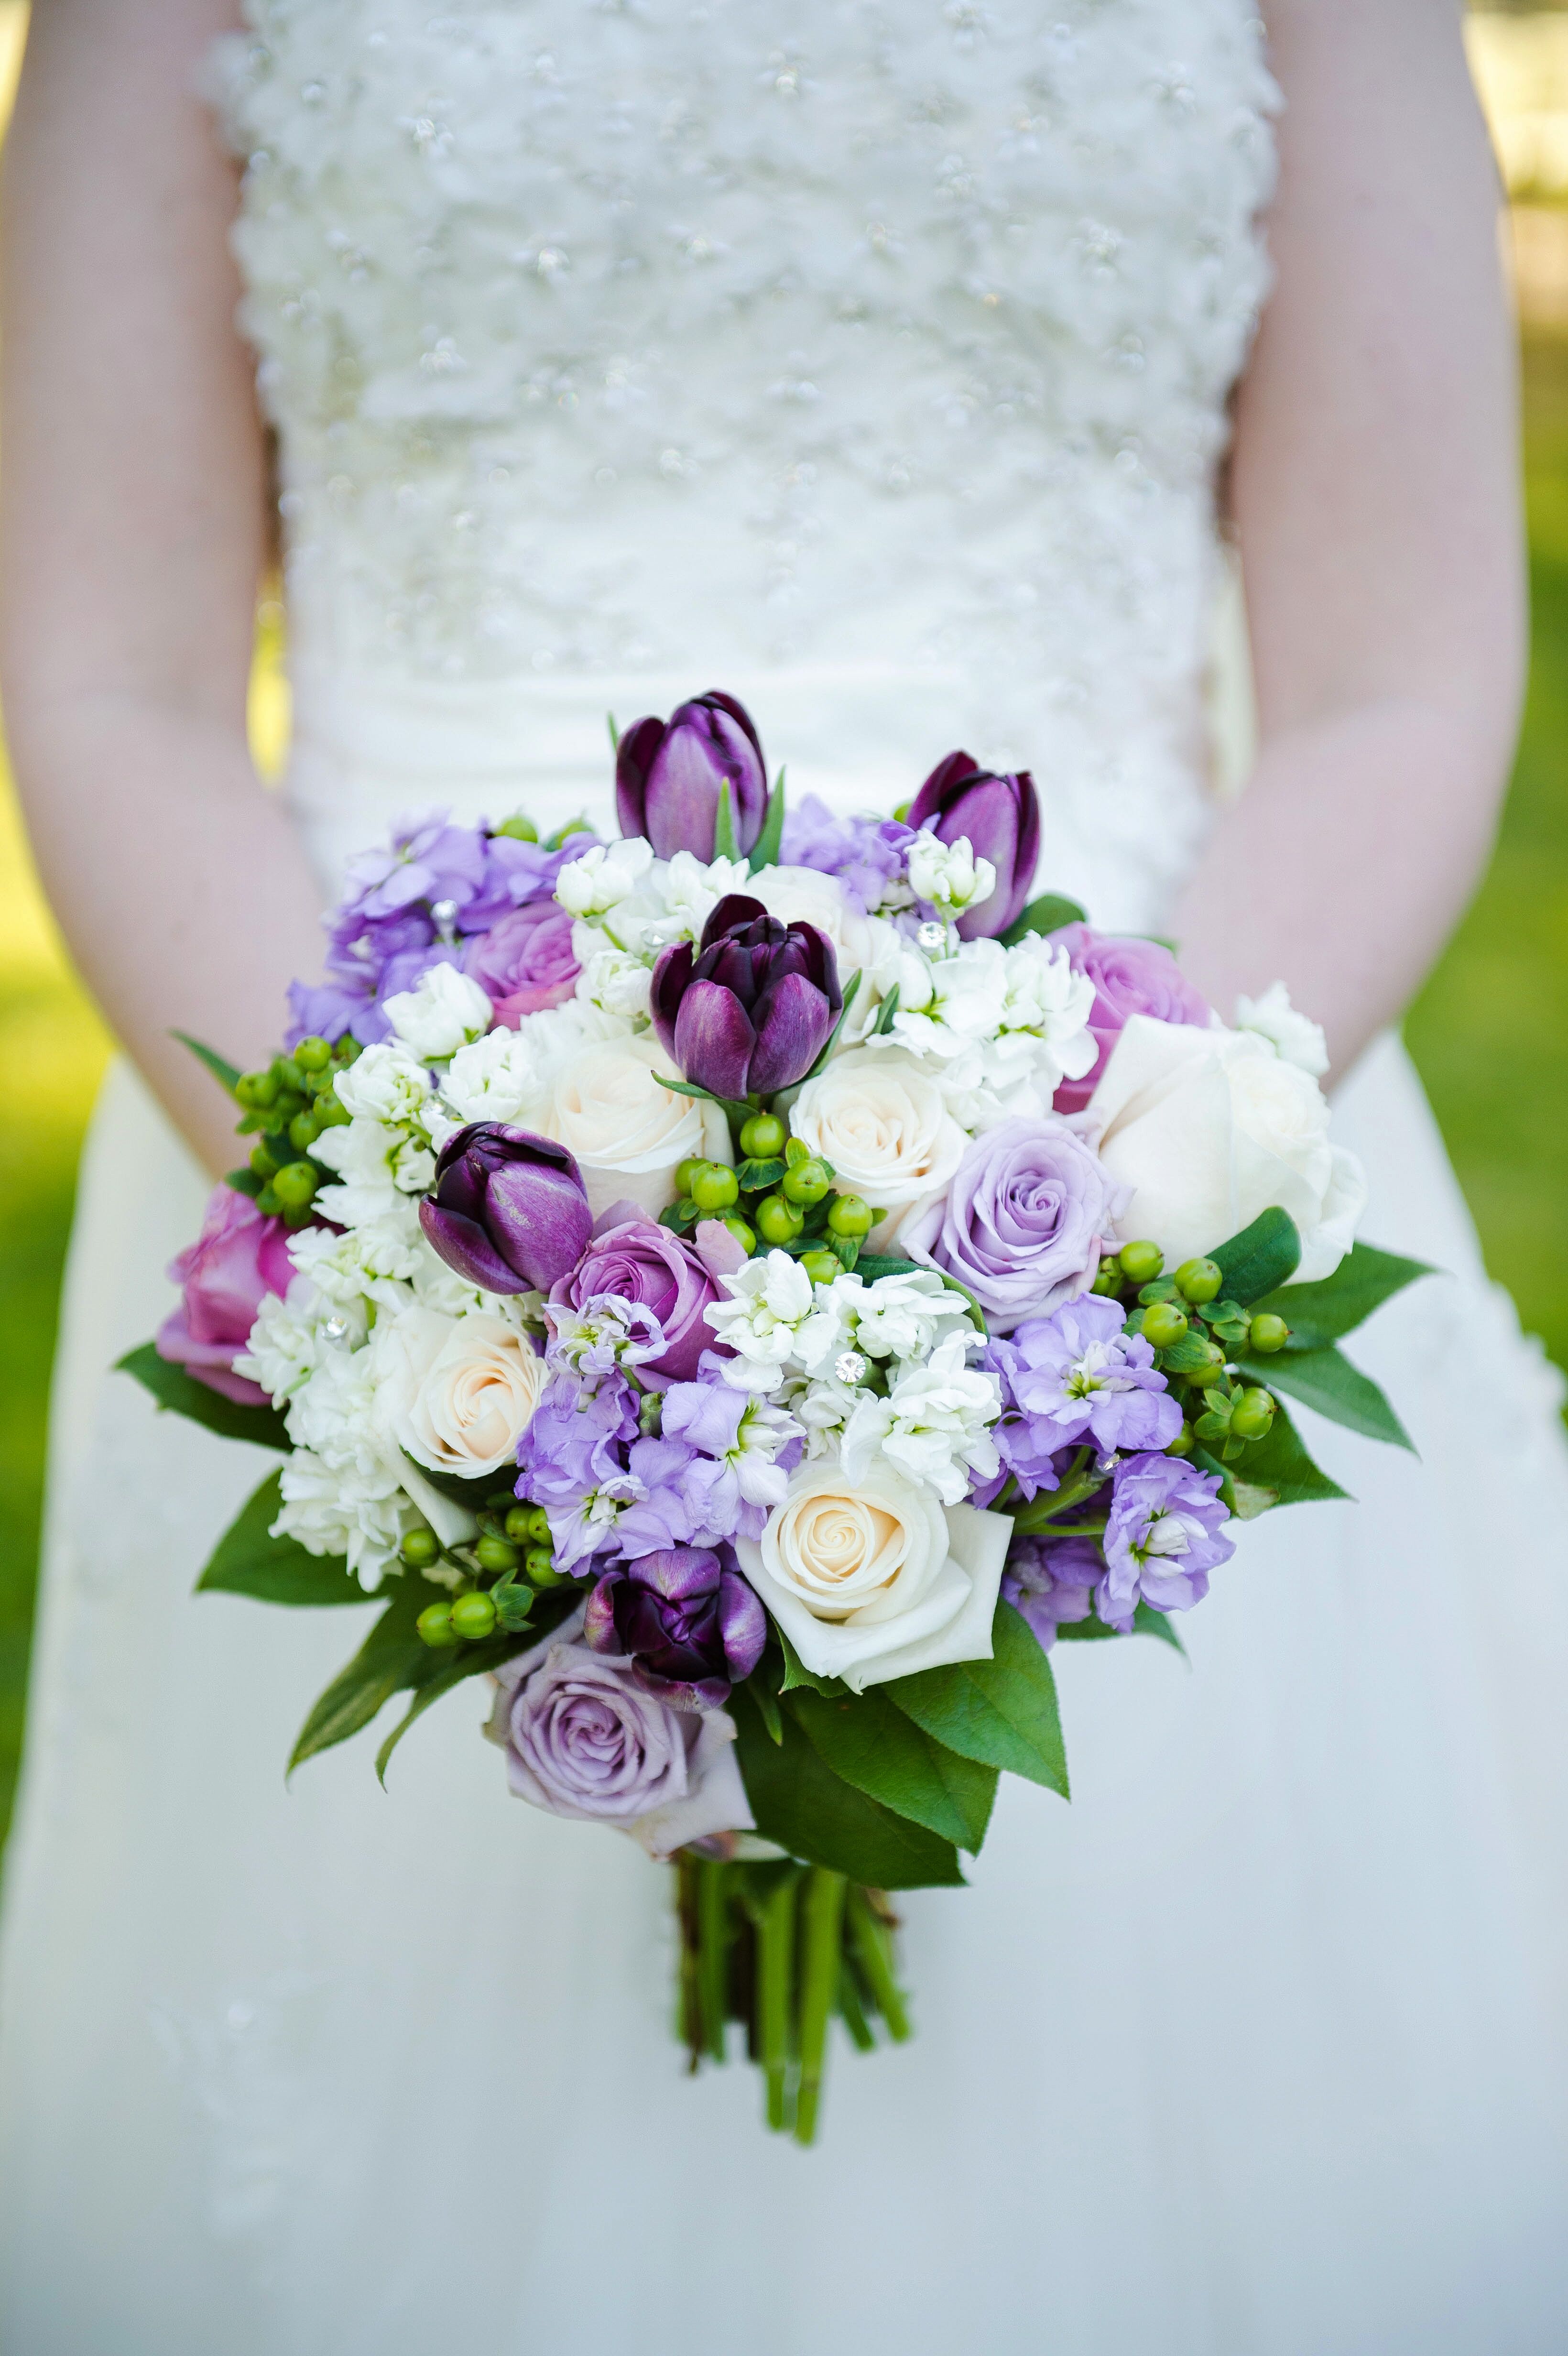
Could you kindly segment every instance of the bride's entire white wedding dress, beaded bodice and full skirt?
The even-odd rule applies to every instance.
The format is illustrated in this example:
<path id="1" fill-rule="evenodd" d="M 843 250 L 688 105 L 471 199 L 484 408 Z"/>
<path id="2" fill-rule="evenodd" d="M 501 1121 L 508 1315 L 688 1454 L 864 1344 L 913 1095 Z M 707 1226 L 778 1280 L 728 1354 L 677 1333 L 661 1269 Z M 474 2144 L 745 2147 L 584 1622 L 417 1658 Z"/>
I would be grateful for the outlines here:
<path id="1" fill-rule="evenodd" d="M 245 323 L 323 884 L 407 806 L 607 818 L 723 686 L 793 792 L 1029 763 L 1161 924 L 1208 808 L 1212 476 L 1267 266 L 1248 0 L 252 0 Z M 214 888 L 217 888 L 214 879 Z M 1260 879 L 1267 891 L 1267 879 Z M 283 992 L 285 973 L 278 975 Z M 200 1006 L 191 1008 L 200 1030 Z M 913 1894 L 824 2142 L 671 2043 L 666 1875 L 478 1696 L 285 1791 L 353 1612 L 191 1600 L 266 1461 L 108 1362 L 202 1183 L 111 1079 L 9 1854 L 7 2356 L 1549 2356 L 1568 2344 L 1568 1461 L 1394 1041 L 1354 1355 L 1420 1461 L 1062 1647 L 1076 1800 Z M 1304 1418 L 1311 1421 L 1311 1418 Z"/>

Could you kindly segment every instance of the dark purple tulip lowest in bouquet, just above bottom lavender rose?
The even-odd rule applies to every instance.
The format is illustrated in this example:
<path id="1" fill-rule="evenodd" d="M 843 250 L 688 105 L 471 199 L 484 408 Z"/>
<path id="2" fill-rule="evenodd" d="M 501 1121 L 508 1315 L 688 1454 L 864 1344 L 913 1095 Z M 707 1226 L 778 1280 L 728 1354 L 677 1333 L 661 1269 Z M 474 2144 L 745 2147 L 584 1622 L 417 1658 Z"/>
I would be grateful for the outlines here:
<path id="1" fill-rule="evenodd" d="M 716 1710 L 768 1642 L 760 1602 L 706 1546 L 669 1546 L 617 1562 L 589 1595 L 584 1642 L 631 1656 L 631 1675 L 678 1710 Z"/>

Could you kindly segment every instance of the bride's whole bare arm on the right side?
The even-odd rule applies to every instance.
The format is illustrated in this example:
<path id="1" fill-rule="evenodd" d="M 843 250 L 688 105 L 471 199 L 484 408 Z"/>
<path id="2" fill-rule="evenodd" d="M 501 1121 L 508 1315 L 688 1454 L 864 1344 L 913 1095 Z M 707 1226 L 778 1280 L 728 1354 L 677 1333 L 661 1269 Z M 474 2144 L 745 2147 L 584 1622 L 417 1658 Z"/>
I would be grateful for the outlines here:
<path id="1" fill-rule="evenodd" d="M 1457 0 L 1267 19 L 1278 283 L 1234 452 L 1260 754 L 1177 926 L 1227 1020 L 1283 975 L 1344 1070 L 1439 954 L 1507 782 L 1514 337 Z"/>

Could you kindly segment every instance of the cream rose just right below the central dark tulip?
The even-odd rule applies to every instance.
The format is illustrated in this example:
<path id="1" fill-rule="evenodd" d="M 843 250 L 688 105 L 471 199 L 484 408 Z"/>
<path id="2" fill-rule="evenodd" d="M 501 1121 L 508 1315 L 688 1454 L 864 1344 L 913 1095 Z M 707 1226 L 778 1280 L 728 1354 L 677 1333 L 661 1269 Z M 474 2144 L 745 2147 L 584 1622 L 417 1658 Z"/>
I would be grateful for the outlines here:
<path id="1" fill-rule="evenodd" d="M 937 1081 L 904 1048 L 836 1055 L 800 1088 L 789 1126 L 833 1164 L 841 1194 L 888 1211 L 871 1230 L 871 1251 L 888 1249 L 911 1204 L 942 1192 L 970 1143 Z"/>

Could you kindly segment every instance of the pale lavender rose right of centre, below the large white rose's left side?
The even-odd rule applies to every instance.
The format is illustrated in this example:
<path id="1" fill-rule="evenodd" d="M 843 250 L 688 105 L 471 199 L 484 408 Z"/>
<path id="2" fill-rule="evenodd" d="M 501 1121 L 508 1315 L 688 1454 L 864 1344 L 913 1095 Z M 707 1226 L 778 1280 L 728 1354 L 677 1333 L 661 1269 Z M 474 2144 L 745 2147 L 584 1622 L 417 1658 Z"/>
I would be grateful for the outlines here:
<path id="1" fill-rule="evenodd" d="M 1088 1291 L 1123 1192 L 1055 1114 L 986 1129 L 944 1194 L 899 1230 L 911 1260 L 965 1284 L 994 1331 Z"/>

